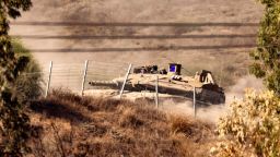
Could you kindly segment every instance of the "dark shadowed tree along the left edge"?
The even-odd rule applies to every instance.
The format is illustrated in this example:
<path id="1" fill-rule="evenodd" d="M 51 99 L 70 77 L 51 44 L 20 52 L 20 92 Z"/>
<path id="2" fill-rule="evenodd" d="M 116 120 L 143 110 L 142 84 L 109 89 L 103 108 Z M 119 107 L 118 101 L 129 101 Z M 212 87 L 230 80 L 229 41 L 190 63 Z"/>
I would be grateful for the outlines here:
<path id="1" fill-rule="evenodd" d="M 27 150 L 30 119 L 20 104 L 15 81 L 28 63 L 27 57 L 16 57 L 9 36 L 9 17 L 21 16 L 32 7 L 31 0 L 0 1 L 0 154 L 23 156 Z"/>

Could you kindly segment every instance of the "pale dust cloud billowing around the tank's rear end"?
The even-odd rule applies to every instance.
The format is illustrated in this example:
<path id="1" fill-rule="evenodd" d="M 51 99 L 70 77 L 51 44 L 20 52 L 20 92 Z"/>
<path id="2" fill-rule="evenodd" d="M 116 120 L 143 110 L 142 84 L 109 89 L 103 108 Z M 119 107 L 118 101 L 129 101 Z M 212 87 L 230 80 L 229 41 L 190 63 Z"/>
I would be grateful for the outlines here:
<path id="1" fill-rule="evenodd" d="M 229 88 L 225 93 L 226 102 L 224 105 L 201 106 L 197 105 L 196 118 L 217 123 L 219 119 L 229 112 L 229 105 L 234 100 L 242 100 L 245 89 L 253 88 L 256 90 L 265 89 L 262 81 L 253 75 L 246 75 L 237 81 L 237 83 Z M 167 99 L 162 101 L 162 108 L 166 112 L 195 116 L 194 104 L 191 100 L 177 101 L 176 99 Z"/>

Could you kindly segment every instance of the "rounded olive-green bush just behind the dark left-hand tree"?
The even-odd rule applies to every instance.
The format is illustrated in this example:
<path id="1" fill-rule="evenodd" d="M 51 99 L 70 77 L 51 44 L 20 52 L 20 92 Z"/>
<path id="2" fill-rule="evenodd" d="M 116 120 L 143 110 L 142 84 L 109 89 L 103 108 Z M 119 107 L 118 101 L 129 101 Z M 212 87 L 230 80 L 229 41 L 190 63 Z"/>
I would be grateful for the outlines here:
<path id="1" fill-rule="evenodd" d="M 23 71 L 24 73 L 16 78 L 19 96 L 22 101 L 36 99 L 43 94 L 43 74 L 40 73 L 40 67 L 20 39 L 13 38 L 12 47 L 18 57 L 27 57 L 30 59 L 30 62 Z"/>

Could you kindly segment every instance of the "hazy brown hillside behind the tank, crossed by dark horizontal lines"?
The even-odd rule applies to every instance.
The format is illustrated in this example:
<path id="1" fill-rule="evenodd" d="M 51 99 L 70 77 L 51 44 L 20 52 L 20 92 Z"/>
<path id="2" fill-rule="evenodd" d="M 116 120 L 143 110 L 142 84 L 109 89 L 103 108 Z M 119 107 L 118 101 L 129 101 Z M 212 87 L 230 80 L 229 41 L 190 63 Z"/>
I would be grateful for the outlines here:
<path id="1" fill-rule="evenodd" d="M 222 85 L 247 73 L 261 8 L 255 0 L 34 0 L 11 33 L 55 62 L 180 62 Z M 114 60 L 112 60 L 114 59 Z M 234 78 L 229 78 L 229 75 Z"/>

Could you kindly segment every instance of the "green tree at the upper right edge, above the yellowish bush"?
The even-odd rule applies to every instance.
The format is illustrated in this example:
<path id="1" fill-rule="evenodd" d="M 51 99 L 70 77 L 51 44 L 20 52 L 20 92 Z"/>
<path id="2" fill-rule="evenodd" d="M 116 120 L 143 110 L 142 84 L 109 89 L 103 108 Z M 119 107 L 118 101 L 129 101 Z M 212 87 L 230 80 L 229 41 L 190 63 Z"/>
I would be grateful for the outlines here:
<path id="1" fill-rule="evenodd" d="M 259 1 L 265 4 L 265 15 L 260 22 L 258 47 L 250 53 L 255 62 L 249 71 L 265 78 L 268 89 L 280 95 L 280 1 Z"/>

